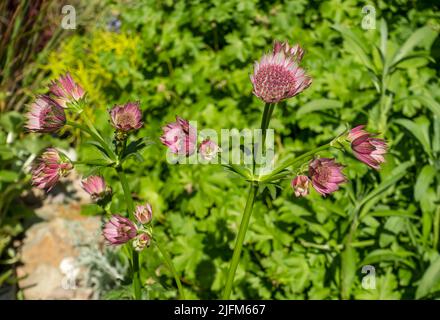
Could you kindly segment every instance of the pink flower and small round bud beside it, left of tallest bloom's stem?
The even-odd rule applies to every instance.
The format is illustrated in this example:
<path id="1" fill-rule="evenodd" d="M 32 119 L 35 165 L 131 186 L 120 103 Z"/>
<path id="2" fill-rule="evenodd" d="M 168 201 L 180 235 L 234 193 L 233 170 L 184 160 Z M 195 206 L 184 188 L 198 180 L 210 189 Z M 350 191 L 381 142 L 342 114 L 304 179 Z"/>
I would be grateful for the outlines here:
<path id="1" fill-rule="evenodd" d="M 160 141 L 168 149 L 179 156 L 190 156 L 197 148 L 197 132 L 188 120 L 176 116 L 176 121 L 162 128 Z M 199 153 L 204 160 L 211 161 L 221 151 L 220 147 L 210 139 L 204 139 L 199 145 Z"/>

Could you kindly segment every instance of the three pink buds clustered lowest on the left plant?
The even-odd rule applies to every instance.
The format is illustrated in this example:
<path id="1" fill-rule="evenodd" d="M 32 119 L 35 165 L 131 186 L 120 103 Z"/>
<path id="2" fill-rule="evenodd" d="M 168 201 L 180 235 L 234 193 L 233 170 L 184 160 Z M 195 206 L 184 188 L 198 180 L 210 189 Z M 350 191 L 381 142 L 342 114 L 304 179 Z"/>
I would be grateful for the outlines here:
<path id="1" fill-rule="evenodd" d="M 153 219 L 151 205 L 147 203 L 136 206 L 134 216 L 137 223 L 118 214 L 112 215 L 102 232 L 108 245 L 121 245 L 133 240 L 132 245 L 136 251 L 150 246 Z"/>

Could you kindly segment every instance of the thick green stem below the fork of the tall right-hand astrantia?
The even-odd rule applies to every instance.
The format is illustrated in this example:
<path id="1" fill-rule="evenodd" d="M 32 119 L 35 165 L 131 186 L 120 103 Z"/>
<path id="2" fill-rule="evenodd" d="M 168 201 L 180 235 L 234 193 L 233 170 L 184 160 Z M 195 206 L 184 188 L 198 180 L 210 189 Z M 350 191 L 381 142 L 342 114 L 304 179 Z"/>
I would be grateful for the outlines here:
<path id="1" fill-rule="evenodd" d="M 223 292 L 223 299 L 229 299 L 232 292 L 232 285 L 234 284 L 235 272 L 237 271 L 238 262 L 240 261 L 241 250 L 243 248 L 244 238 L 251 219 L 252 208 L 254 206 L 255 198 L 257 197 L 258 185 L 251 183 L 249 194 L 246 201 L 243 217 L 240 223 L 240 230 L 238 231 L 237 240 L 235 242 L 234 253 L 232 254 L 231 265 L 229 267 L 228 277 L 226 279 L 225 290 Z"/>

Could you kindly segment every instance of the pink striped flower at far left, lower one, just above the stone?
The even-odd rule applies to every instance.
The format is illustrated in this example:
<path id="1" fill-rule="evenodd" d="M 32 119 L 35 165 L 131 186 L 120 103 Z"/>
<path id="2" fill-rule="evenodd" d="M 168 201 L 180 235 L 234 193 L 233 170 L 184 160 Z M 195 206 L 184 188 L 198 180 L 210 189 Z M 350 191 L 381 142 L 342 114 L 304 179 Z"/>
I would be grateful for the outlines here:
<path id="1" fill-rule="evenodd" d="M 65 177 L 73 169 L 66 156 L 54 148 L 48 148 L 40 156 L 32 169 L 32 184 L 49 192 L 61 177 Z"/>

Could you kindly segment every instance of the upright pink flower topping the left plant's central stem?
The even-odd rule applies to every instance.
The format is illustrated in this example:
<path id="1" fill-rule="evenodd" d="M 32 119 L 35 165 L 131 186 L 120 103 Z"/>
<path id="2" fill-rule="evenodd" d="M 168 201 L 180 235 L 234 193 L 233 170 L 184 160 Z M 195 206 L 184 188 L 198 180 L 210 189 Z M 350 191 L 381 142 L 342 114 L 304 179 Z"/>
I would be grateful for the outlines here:
<path id="1" fill-rule="evenodd" d="M 112 126 L 122 132 L 137 130 L 143 125 L 139 102 L 128 102 L 121 106 L 114 106 L 110 110 L 110 118 Z"/>

